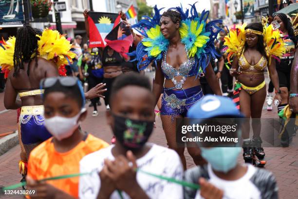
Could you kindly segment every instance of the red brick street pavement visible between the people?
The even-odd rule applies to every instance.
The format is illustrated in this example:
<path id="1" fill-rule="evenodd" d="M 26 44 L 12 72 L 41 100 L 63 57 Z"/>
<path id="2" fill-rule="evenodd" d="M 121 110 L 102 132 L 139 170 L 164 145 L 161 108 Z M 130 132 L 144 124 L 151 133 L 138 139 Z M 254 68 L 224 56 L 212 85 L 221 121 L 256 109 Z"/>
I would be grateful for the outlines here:
<path id="1" fill-rule="evenodd" d="M 0 107 L 3 95 L 0 94 Z M 103 100 L 102 100 L 103 103 Z M 88 102 L 89 104 L 89 102 Z M 0 109 L 0 111 L 3 109 Z M 82 129 L 91 133 L 107 142 L 110 142 L 112 138 L 112 131 L 106 125 L 105 108 L 99 107 L 99 115 L 92 117 L 92 108 L 88 107 L 88 117 L 82 122 Z M 263 110 L 263 118 L 276 118 L 276 110 L 268 112 Z M 5 120 L 4 120 L 5 119 Z M 16 129 L 15 124 L 16 111 L 9 111 L 0 114 L 0 133 L 9 131 L 8 129 Z M 3 122 L 4 121 L 4 122 Z M 162 130 L 160 118 L 156 119 L 156 129 L 149 139 L 149 141 L 156 144 L 167 146 L 166 138 Z M 294 137 L 296 143 L 298 142 L 298 136 Z M 265 169 L 273 172 L 276 176 L 279 186 L 279 198 L 281 199 L 297 199 L 298 198 L 298 148 L 265 148 L 267 164 Z M 0 156 L 0 185 L 6 186 L 14 183 L 18 183 L 20 180 L 20 174 L 18 169 L 19 161 L 19 145 L 9 150 L 7 153 Z M 185 151 L 187 167 L 194 166 L 194 163 Z M 243 162 L 241 155 L 238 159 Z M 21 196 L 4 196 L 1 199 L 21 199 Z"/>

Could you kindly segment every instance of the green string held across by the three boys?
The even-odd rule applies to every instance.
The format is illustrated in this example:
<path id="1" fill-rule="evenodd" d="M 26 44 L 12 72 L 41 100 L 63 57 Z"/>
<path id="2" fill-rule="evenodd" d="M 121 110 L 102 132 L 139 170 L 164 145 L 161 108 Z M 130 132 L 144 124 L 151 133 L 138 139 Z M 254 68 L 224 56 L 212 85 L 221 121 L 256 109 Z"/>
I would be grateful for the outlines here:
<path id="1" fill-rule="evenodd" d="M 164 180 L 167 180 L 169 182 L 180 184 L 184 187 L 189 187 L 189 188 L 192 188 L 192 189 L 200 189 L 200 185 L 194 184 L 194 183 L 191 183 L 191 182 L 187 182 L 187 181 L 184 181 L 184 180 L 178 180 L 178 179 L 174 179 L 174 178 L 169 178 L 169 177 L 153 174 L 153 173 L 150 173 L 150 172 L 147 172 L 147 171 L 140 170 L 138 168 L 136 168 L 135 171 L 141 172 L 143 174 L 147 174 L 149 176 L 153 176 L 153 177 L 158 178 L 158 179 L 164 179 Z M 96 172 L 96 171 L 93 171 L 93 172 Z M 38 181 L 42 182 L 42 181 L 47 181 L 47 180 L 68 179 L 68 178 L 74 178 L 74 177 L 79 177 L 79 176 L 91 175 L 93 172 L 56 176 L 56 177 L 51 177 L 51 178 L 40 179 Z M 20 183 L 13 184 L 13 185 L 10 185 L 10 186 L 7 186 L 7 187 L 2 187 L 1 191 L 3 192 L 5 190 L 16 189 L 16 188 L 19 188 L 19 187 L 22 187 L 22 186 L 25 186 L 25 185 L 26 185 L 26 182 L 20 182 Z M 120 198 L 123 199 L 121 191 L 117 190 L 117 192 L 118 192 Z"/>

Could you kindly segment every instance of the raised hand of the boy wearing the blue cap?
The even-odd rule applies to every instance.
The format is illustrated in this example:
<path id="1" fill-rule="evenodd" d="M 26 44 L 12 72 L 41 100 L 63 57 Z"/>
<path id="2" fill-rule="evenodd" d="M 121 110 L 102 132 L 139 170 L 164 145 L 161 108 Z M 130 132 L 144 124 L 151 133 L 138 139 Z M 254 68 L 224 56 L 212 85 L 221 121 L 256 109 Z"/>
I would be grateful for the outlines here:
<path id="1" fill-rule="evenodd" d="M 201 196 L 205 199 L 222 199 L 223 191 L 211 183 L 207 182 L 204 178 L 199 179 L 201 186 Z"/>

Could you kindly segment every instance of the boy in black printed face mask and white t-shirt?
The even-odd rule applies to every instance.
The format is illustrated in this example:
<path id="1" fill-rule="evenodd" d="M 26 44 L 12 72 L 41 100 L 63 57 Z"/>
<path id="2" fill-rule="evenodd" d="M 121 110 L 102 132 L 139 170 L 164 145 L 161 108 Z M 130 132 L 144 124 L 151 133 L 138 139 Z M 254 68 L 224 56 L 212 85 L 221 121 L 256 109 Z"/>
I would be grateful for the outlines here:
<path id="1" fill-rule="evenodd" d="M 183 167 L 175 151 L 148 143 L 153 130 L 154 99 L 149 79 L 136 73 L 114 81 L 107 121 L 114 145 L 80 161 L 80 199 L 182 199 L 181 185 L 150 177 L 142 171 L 182 179 Z"/>

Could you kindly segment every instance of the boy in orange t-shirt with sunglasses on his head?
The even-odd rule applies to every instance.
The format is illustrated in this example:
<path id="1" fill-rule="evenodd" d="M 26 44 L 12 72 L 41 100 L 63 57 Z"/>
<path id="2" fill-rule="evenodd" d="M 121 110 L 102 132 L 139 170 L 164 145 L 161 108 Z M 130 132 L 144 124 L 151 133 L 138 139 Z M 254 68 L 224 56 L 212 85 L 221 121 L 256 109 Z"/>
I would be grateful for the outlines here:
<path id="1" fill-rule="evenodd" d="M 53 135 L 38 145 L 28 162 L 31 198 L 78 198 L 78 177 L 37 182 L 39 179 L 79 173 L 79 161 L 87 154 L 109 146 L 83 132 L 79 126 L 87 116 L 83 88 L 77 78 L 41 80 L 44 89 L 44 125 Z"/>

